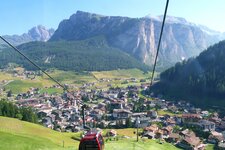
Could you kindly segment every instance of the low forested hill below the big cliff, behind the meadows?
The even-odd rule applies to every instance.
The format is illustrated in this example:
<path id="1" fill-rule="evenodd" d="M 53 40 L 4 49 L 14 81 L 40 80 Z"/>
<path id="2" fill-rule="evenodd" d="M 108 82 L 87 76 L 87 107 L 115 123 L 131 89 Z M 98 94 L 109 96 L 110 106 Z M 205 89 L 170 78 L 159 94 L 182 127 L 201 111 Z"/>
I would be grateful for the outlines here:
<path id="1" fill-rule="evenodd" d="M 109 47 L 103 37 L 83 41 L 30 42 L 18 48 L 43 69 L 57 68 L 72 71 L 101 71 L 148 67 L 127 53 Z M 0 67 L 13 62 L 26 69 L 36 69 L 12 49 L 0 52 Z"/>

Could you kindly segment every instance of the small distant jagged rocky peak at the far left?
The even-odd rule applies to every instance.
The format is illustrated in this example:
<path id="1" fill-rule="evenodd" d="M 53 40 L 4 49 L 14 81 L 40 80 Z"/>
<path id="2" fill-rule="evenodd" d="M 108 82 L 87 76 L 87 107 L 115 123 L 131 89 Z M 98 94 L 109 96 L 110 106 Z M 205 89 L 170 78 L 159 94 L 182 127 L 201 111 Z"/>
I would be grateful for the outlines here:
<path id="1" fill-rule="evenodd" d="M 13 45 L 20 45 L 31 41 L 47 41 L 53 35 L 54 29 L 46 29 L 42 25 L 31 28 L 28 33 L 22 35 L 4 35 L 3 37 Z M 0 41 L 0 47 L 4 46 L 4 42 Z"/>

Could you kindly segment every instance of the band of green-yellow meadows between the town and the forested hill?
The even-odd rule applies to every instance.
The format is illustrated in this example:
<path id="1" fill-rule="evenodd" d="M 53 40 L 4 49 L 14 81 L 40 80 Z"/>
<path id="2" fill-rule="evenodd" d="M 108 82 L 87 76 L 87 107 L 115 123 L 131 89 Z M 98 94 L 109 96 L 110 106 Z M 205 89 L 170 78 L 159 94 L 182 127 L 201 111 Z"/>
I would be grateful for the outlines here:
<path id="1" fill-rule="evenodd" d="M 144 73 L 139 69 L 122 69 L 112 71 L 100 71 L 100 72 L 73 72 L 73 71 L 62 71 L 62 70 L 50 70 L 48 73 L 61 84 L 74 85 L 74 88 L 83 85 L 84 83 L 96 83 L 93 88 L 107 88 L 108 84 L 116 87 L 126 87 L 128 85 L 140 85 L 140 79 L 146 79 L 149 82 L 151 73 Z M 97 82 L 99 79 L 110 79 L 110 82 Z M 120 78 L 121 80 L 116 80 Z M 123 83 L 127 79 L 136 78 L 137 82 Z M 0 81 L 7 80 L 8 83 L 4 85 L 6 90 L 11 90 L 13 94 L 21 92 L 27 92 L 31 87 L 41 88 L 41 93 L 48 92 L 62 93 L 62 89 L 50 88 L 55 85 L 52 80 L 46 75 L 36 76 L 35 79 L 27 79 L 22 77 L 13 77 L 9 73 L 0 72 Z M 73 89 L 71 89 L 73 90 Z"/>

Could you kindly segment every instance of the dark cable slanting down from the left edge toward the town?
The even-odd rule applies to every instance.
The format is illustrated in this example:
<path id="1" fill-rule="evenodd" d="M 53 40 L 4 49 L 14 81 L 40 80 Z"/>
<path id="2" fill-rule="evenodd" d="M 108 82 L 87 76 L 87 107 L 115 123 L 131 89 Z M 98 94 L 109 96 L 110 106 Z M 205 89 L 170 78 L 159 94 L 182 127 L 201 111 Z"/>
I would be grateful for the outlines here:
<path id="1" fill-rule="evenodd" d="M 21 56 L 23 56 L 27 61 L 29 61 L 32 65 L 34 65 L 36 68 L 38 68 L 41 72 L 43 72 L 45 75 L 47 75 L 52 81 L 54 81 L 55 83 L 57 83 L 60 87 L 63 88 L 64 91 L 67 91 L 68 93 L 70 93 L 70 91 L 65 88 L 61 83 L 59 83 L 56 79 L 54 79 L 52 76 L 50 76 L 46 71 L 44 71 L 43 69 L 41 69 L 41 67 L 39 67 L 36 63 L 34 63 L 30 58 L 28 58 L 26 55 L 24 55 L 18 48 L 16 48 L 15 46 L 13 46 L 11 43 L 9 43 L 5 38 L 3 38 L 2 36 L 0 36 L 0 38 L 7 43 L 11 48 L 13 48 L 16 52 L 18 52 Z"/>

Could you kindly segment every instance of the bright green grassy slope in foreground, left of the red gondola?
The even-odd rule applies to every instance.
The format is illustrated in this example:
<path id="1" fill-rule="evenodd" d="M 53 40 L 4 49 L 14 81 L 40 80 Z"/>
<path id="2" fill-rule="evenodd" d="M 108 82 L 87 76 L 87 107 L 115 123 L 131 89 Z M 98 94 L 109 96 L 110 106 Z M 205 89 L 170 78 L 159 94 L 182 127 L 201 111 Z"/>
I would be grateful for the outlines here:
<path id="1" fill-rule="evenodd" d="M 60 133 L 40 125 L 0 117 L 0 149 L 76 149 L 79 142 L 71 137 L 77 133 Z M 1 144 L 2 143 L 2 144 Z M 4 144 L 3 144 L 4 143 Z"/>

